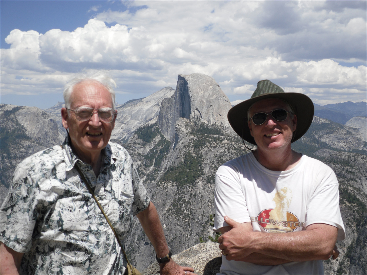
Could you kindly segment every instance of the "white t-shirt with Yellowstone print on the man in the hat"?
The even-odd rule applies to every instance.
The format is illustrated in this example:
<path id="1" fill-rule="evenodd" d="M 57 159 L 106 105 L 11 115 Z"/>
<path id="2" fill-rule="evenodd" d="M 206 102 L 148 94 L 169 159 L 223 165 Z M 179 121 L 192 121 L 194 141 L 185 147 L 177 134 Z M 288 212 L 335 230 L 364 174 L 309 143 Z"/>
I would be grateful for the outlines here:
<path id="1" fill-rule="evenodd" d="M 285 233 L 324 223 L 338 228 L 345 238 L 339 210 L 338 180 L 322 162 L 303 155 L 286 171 L 272 171 L 252 153 L 220 166 L 215 175 L 214 231 L 228 226 L 224 216 L 239 223 L 251 222 L 257 232 Z M 323 274 L 321 260 L 281 265 L 228 261 L 222 256 L 221 274 Z"/>

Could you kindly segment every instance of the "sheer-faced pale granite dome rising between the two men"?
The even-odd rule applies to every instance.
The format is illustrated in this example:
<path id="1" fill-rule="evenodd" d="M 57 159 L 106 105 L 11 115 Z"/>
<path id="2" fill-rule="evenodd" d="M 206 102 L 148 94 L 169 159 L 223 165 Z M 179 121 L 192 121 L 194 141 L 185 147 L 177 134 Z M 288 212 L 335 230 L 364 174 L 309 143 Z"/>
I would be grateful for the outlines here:
<path id="1" fill-rule="evenodd" d="M 174 95 L 162 101 L 159 129 L 168 140 L 175 142 L 174 128 L 179 118 L 197 118 L 208 125 L 229 127 L 227 113 L 231 107 L 214 78 L 200 73 L 179 74 Z"/>

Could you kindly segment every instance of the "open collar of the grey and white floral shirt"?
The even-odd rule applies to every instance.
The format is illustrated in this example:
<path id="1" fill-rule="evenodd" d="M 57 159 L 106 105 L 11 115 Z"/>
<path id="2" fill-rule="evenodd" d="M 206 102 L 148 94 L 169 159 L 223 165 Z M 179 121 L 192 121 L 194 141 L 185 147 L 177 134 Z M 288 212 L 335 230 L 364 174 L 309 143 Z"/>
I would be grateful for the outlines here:
<path id="1" fill-rule="evenodd" d="M 62 152 L 65 159 L 65 169 L 70 171 L 74 168 L 77 161 L 80 163 L 84 163 L 81 161 L 76 154 L 74 154 L 71 148 L 71 140 L 69 135 L 65 138 L 64 142 L 62 143 Z M 112 152 L 112 148 L 110 144 L 107 144 L 105 148 L 101 151 L 102 154 L 102 167 L 110 166 L 116 162 L 116 155 Z"/>

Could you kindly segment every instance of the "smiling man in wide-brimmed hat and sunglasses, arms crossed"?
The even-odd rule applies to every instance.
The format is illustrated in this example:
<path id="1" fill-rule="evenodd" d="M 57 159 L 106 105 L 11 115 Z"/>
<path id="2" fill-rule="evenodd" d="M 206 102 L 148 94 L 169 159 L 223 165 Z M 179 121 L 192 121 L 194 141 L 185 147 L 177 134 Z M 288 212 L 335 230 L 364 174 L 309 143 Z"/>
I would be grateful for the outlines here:
<path id="1" fill-rule="evenodd" d="M 226 162 L 215 176 L 214 230 L 221 274 L 323 274 L 345 238 L 338 181 L 330 167 L 291 150 L 308 130 L 312 101 L 259 81 L 228 120 L 257 150 Z"/>

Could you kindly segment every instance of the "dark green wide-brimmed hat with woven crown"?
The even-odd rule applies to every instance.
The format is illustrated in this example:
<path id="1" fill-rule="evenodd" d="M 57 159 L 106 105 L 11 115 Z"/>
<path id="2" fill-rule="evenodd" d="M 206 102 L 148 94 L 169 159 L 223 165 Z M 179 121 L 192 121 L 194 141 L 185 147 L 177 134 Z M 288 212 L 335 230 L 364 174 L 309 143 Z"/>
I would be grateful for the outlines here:
<path id="1" fill-rule="evenodd" d="M 314 107 L 312 100 L 300 93 L 286 93 L 278 85 L 270 80 L 261 80 L 257 83 L 257 88 L 251 98 L 233 106 L 228 112 L 228 121 L 233 130 L 247 142 L 256 145 L 254 137 L 251 136 L 247 124 L 247 111 L 255 102 L 277 98 L 288 102 L 297 116 L 297 128 L 293 132 L 292 142 L 303 136 L 310 127 L 313 119 Z"/>

